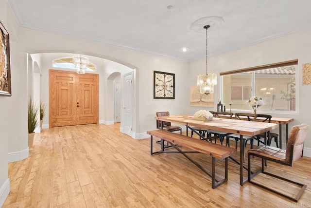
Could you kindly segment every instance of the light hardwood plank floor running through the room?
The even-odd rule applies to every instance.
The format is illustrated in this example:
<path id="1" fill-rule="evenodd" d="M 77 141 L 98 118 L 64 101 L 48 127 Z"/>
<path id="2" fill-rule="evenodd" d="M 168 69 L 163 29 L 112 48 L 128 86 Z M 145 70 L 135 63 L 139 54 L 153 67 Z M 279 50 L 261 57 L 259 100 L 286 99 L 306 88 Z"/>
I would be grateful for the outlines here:
<path id="1" fill-rule="evenodd" d="M 241 187 L 239 166 L 231 160 L 228 182 L 211 189 L 211 178 L 183 155 L 150 155 L 149 138 L 135 140 L 119 129 L 119 124 L 84 125 L 35 134 L 29 158 L 8 165 L 11 190 L 3 208 L 297 205 L 249 183 Z M 208 156 L 191 156 L 210 169 Z M 217 173 L 222 174 L 224 162 L 217 160 L 217 164 Z M 299 203 L 311 206 L 311 158 L 299 159 L 294 167 L 268 162 L 267 170 L 307 184 Z M 282 188 L 289 189 L 286 185 Z"/>

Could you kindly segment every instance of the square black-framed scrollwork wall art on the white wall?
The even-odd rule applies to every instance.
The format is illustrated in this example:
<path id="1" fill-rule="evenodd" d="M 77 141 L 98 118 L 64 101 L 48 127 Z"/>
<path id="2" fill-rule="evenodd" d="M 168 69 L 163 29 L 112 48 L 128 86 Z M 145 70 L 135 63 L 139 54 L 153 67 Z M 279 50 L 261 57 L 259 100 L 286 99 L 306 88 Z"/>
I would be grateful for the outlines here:
<path id="1" fill-rule="evenodd" d="M 154 71 L 154 99 L 175 99 L 175 74 Z"/>

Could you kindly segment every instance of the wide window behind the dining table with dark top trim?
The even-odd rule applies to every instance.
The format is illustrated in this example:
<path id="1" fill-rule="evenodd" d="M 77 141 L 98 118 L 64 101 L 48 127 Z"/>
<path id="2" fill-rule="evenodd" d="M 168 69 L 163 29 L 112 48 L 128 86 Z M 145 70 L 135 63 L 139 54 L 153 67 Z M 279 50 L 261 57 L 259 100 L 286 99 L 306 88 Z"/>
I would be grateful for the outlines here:
<path id="1" fill-rule="evenodd" d="M 234 110 L 250 110 L 246 101 L 257 96 L 265 103 L 259 110 L 296 111 L 297 63 L 298 60 L 291 60 L 221 73 L 223 103 L 231 104 Z"/>

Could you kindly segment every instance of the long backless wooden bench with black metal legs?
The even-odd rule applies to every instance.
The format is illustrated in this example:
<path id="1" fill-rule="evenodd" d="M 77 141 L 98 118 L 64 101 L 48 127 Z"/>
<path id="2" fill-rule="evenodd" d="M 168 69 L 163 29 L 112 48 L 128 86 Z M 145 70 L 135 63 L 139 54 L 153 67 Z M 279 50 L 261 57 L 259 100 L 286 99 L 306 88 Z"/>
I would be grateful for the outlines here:
<path id="1" fill-rule="evenodd" d="M 228 180 L 228 157 L 235 154 L 237 150 L 235 148 L 222 146 L 220 144 L 214 144 L 211 142 L 207 142 L 200 139 L 194 139 L 189 136 L 172 133 L 164 130 L 155 130 L 147 132 L 151 136 L 151 154 L 155 153 L 182 153 L 185 157 L 187 157 L 193 164 L 195 164 L 198 168 L 203 170 L 208 176 L 212 178 L 212 188 L 215 189 L 221 184 L 225 183 Z M 157 137 L 161 139 L 161 151 L 153 152 L 153 137 Z M 177 151 L 164 151 L 163 141 L 167 141 L 172 147 L 174 147 Z M 193 151 L 182 151 L 178 146 L 182 146 Z M 203 168 L 200 164 L 191 159 L 186 153 L 203 153 L 212 157 L 212 171 L 208 172 L 205 168 Z M 225 159 L 225 178 L 222 180 L 217 180 L 215 177 L 215 158 L 217 159 Z"/>

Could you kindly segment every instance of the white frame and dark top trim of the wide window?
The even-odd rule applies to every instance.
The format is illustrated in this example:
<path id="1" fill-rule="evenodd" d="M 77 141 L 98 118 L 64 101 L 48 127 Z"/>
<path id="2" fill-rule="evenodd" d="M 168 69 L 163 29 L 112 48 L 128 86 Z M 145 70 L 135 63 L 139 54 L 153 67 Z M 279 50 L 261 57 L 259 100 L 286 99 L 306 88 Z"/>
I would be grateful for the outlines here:
<path id="1" fill-rule="evenodd" d="M 257 70 L 263 70 L 263 69 L 270 69 L 270 68 L 276 68 L 276 67 L 285 67 L 285 66 L 293 66 L 295 65 L 295 110 L 290 111 L 290 110 L 261 110 L 260 112 L 262 113 L 284 113 L 284 114 L 297 114 L 299 112 L 299 98 L 298 98 L 298 59 L 294 60 L 289 60 L 289 61 L 283 61 L 283 62 L 278 62 L 278 63 L 272 63 L 272 64 L 265 64 L 261 66 L 255 66 L 255 67 L 249 67 L 249 68 L 244 68 L 244 69 L 239 69 L 239 70 L 232 70 L 232 71 L 226 71 L 226 72 L 221 72 L 220 73 L 220 97 L 222 100 L 224 100 L 224 76 L 225 75 L 233 75 L 233 74 L 239 74 L 239 73 L 244 73 L 244 72 L 252 72 L 252 91 L 251 91 L 251 96 L 255 96 L 256 92 L 256 87 L 255 87 L 255 71 Z M 246 104 L 245 104 L 246 105 Z M 249 110 L 242 110 L 242 109 L 231 109 L 231 111 L 237 112 L 249 112 Z"/>

